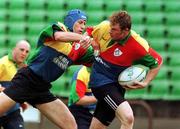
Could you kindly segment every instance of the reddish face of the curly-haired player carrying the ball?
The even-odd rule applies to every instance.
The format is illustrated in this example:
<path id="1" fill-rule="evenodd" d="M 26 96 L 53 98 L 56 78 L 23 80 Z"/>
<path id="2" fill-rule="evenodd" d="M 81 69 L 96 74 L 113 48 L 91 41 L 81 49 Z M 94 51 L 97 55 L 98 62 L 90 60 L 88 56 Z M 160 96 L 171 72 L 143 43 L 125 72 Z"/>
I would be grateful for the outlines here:
<path id="1" fill-rule="evenodd" d="M 122 40 L 127 36 L 127 34 L 128 34 L 128 31 L 122 30 L 119 27 L 119 24 L 115 24 L 115 25 L 111 24 L 110 35 L 113 40 Z"/>

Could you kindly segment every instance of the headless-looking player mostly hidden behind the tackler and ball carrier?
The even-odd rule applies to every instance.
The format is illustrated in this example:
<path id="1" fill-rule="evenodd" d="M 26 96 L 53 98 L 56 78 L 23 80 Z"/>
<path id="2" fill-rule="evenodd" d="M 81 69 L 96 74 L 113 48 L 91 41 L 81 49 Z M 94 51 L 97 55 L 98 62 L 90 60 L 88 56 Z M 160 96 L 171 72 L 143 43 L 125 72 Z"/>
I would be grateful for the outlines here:
<path id="1" fill-rule="evenodd" d="M 74 73 L 71 82 L 68 106 L 76 120 L 78 129 L 89 129 L 97 102 L 88 85 L 90 73 L 90 67 L 80 66 Z"/>

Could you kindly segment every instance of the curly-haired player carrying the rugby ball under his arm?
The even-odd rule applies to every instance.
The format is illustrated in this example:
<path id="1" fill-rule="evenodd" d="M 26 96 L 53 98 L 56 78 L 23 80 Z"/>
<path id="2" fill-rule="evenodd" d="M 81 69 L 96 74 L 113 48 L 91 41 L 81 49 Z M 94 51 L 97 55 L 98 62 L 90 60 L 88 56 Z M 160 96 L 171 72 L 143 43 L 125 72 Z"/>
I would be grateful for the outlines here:
<path id="1" fill-rule="evenodd" d="M 157 75 L 162 58 L 147 41 L 131 30 L 131 17 L 126 11 L 119 11 L 92 28 L 92 37 L 99 45 L 95 57 L 90 87 L 97 98 L 96 110 L 90 129 L 105 129 L 117 117 L 121 129 L 132 129 L 133 111 L 125 100 L 125 89 L 118 83 L 118 75 L 133 64 L 150 68 L 143 82 L 135 82 L 130 89 L 147 87 Z"/>

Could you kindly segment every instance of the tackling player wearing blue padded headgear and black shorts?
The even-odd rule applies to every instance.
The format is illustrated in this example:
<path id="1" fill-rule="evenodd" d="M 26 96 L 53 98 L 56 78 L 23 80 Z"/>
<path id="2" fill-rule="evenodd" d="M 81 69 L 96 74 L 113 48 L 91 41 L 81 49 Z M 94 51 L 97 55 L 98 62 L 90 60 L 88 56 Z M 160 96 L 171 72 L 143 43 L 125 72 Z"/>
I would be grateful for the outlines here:
<path id="1" fill-rule="evenodd" d="M 59 128 L 77 128 L 67 106 L 49 89 L 50 83 L 59 78 L 74 61 L 89 54 L 86 51 L 90 50 L 87 49 L 91 44 L 90 39 L 82 35 L 86 20 L 81 10 L 70 10 L 64 19 L 65 25 L 57 22 L 41 31 L 28 67 L 20 69 L 11 81 L 12 86 L 0 93 L 1 115 L 16 102 L 28 102 Z M 72 45 L 74 41 L 80 43 Z M 84 55 L 85 52 L 88 54 Z"/>

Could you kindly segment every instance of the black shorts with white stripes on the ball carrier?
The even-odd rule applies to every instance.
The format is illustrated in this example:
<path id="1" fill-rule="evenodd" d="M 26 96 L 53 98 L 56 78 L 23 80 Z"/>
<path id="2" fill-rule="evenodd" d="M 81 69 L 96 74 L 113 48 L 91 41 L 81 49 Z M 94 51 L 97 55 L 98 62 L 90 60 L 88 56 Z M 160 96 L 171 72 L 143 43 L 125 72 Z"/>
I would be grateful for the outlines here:
<path id="1" fill-rule="evenodd" d="M 115 117 L 117 107 L 125 101 L 123 89 L 117 83 L 107 84 L 97 88 L 91 88 L 94 96 L 98 99 L 94 117 L 108 126 Z"/>

